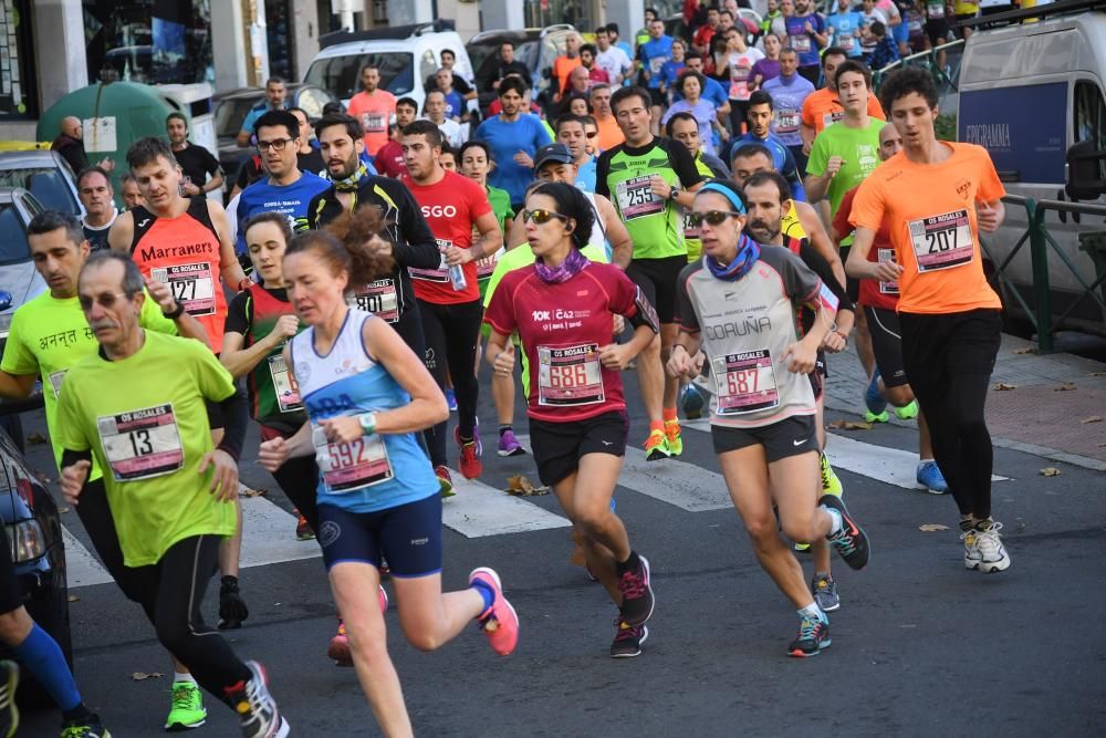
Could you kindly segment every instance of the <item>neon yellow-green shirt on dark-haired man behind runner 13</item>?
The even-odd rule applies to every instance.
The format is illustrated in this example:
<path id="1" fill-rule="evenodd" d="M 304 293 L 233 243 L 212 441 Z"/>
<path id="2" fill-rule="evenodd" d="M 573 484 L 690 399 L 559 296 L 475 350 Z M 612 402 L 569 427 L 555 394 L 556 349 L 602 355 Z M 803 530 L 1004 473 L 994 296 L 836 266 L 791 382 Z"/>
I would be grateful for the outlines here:
<path id="1" fill-rule="evenodd" d="M 177 324 L 161 314 L 161 308 L 146 295 L 138 323 L 158 333 L 177 334 Z M 43 292 L 21 305 L 11 319 L 8 343 L 4 345 L 0 371 L 14 376 L 36 375 L 42 381 L 42 397 L 46 406 L 46 428 L 60 465 L 62 447 L 58 443 L 58 396 L 67 370 L 95 354 L 100 349 L 88 328 L 76 297 L 59 300 Z M 88 480 L 100 479 L 100 467 L 93 464 Z"/>

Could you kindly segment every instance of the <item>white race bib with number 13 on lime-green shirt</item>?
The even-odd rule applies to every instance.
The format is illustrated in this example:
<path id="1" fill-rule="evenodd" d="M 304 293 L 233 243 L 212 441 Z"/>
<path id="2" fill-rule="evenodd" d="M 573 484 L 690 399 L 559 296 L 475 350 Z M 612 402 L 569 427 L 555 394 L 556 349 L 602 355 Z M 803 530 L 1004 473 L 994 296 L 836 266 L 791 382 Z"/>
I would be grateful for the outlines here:
<path id="1" fill-rule="evenodd" d="M 116 481 L 160 477 L 185 464 L 173 405 L 103 415 L 96 428 Z"/>

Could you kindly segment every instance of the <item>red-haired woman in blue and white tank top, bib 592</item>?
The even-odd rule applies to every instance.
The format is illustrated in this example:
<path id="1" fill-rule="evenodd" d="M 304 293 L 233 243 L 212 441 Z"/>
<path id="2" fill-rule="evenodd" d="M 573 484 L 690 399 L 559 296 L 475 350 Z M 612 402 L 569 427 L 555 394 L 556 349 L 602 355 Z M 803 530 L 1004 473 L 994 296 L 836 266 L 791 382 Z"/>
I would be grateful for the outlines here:
<path id="1" fill-rule="evenodd" d="M 376 218 L 367 230 L 383 227 Z M 379 238 L 343 243 L 309 231 L 292 240 L 284 280 L 309 328 L 283 356 L 310 423 L 286 440 L 262 443 L 258 458 L 270 470 L 290 457 L 317 460 L 319 542 L 357 677 L 384 735 L 409 736 L 377 603 L 382 558 L 392 569 L 399 624 L 421 651 L 439 648 L 476 619 L 495 653 L 507 655 L 519 619 L 491 569 L 473 570 L 467 590 L 441 592 L 441 497 L 415 434 L 449 410 L 419 356 L 387 323 L 345 300 L 348 285 L 385 277 L 390 261 Z"/>

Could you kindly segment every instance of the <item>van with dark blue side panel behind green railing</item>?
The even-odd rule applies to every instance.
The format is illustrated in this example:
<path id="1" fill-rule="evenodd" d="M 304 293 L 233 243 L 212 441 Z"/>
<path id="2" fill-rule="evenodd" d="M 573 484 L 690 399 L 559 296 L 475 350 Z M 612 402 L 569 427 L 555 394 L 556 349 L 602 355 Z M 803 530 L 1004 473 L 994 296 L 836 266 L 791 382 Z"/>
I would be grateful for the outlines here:
<path id="1" fill-rule="evenodd" d="M 1106 206 L 1106 2 L 1067 0 L 998 17 L 1035 17 L 1035 22 L 977 21 L 960 70 L 959 141 L 987 147 L 1011 195 L 1034 200 L 1071 200 Z M 995 17 L 991 17 L 995 18 Z M 982 21 L 982 24 L 979 24 Z M 1068 154 L 1088 152 L 1092 159 L 1068 166 Z M 1073 176 L 1083 173 L 1083 186 Z M 1089 176 L 1088 176 L 1089 174 Z M 1087 184 L 1089 183 L 1089 186 Z M 1079 190 L 1083 190 L 1082 193 Z M 1094 262 L 1079 249 L 1078 233 L 1106 231 L 1106 218 L 1047 211 L 1045 225 L 1088 284 L 1097 279 Z M 1006 205 L 1002 228 L 989 239 L 1002 263 L 1027 227 L 1025 208 Z M 1033 271 L 1026 242 L 1004 270 L 1010 285 L 1032 306 Z M 1072 328 L 1106 333 L 1106 314 L 1048 248 L 1048 283 L 1054 318 L 1078 303 L 1065 319 Z M 1102 292 L 1099 291 L 1099 295 Z M 1003 295 L 1008 311 L 1021 313 Z"/>

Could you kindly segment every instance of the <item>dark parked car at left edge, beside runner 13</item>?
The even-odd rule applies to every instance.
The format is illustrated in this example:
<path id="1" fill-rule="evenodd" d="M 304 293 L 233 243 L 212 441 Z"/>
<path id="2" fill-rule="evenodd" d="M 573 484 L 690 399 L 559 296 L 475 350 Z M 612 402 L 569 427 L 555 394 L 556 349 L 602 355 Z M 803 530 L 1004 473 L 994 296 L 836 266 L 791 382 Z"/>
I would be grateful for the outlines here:
<path id="1" fill-rule="evenodd" d="M 35 623 L 53 636 L 73 664 L 69 588 L 61 516 L 45 486 L 34 476 L 11 437 L 0 430 L 0 518 L 3 519 L 23 606 Z M 0 658 L 15 658 L 0 646 Z M 52 705 L 30 669 L 22 671 L 20 706 Z"/>

